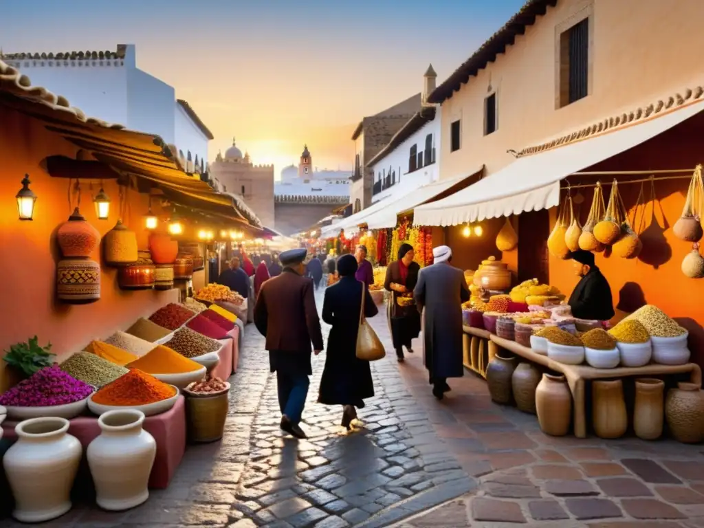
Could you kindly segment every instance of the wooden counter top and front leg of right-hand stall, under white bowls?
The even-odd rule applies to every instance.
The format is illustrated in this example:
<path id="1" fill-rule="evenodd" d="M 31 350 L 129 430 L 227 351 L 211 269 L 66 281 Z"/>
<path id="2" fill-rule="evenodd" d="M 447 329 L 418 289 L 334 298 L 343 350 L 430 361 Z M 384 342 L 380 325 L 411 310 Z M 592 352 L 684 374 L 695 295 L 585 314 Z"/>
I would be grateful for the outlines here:
<path id="1" fill-rule="evenodd" d="M 477 329 L 472 329 L 474 332 L 482 332 Z M 466 332 L 466 330 L 465 330 Z M 486 331 L 483 331 L 486 332 Z M 684 365 L 659 365 L 658 363 L 650 363 L 643 367 L 617 367 L 617 368 L 594 368 L 589 365 L 565 365 L 551 360 L 548 356 L 543 356 L 534 352 L 531 348 L 517 344 L 515 341 L 503 339 L 494 334 L 489 334 L 489 356 L 494 357 L 500 348 L 504 348 L 509 352 L 515 353 L 533 363 L 543 365 L 550 370 L 560 372 L 567 379 L 567 384 L 572 392 L 574 400 L 574 436 L 577 438 L 586 438 L 586 407 L 584 386 L 586 380 L 591 379 L 612 379 L 623 378 L 630 376 L 652 376 L 652 375 L 670 375 L 682 374 L 689 372 L 691 382 L 701 385 L 702 372 L 696 363 L 686 363 Z"/>

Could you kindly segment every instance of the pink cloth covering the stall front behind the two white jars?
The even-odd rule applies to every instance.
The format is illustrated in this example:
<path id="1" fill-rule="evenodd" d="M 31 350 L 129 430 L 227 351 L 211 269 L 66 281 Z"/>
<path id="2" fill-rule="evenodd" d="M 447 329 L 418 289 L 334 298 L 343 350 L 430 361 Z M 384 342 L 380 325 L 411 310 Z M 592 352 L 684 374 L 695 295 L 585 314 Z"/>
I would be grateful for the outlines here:
<path id="1" fill-rule="evenodd" d="M 4 438 L 15 440 L 17 422 L 4 422 Z M 165 489 L 176 472 L 186 451 L 186 406 L 183 396 L 179 396 L 171 410 L 161 415 L 149 416 L 144 420 L 144 430 L 156 440 L 156 459 L 151 468 L 149 487 Z M 83 448 L 87 448 L 100 434 L 98 418 L 79 416 L 70 420 L 69 434 L 73 434 Z"/>

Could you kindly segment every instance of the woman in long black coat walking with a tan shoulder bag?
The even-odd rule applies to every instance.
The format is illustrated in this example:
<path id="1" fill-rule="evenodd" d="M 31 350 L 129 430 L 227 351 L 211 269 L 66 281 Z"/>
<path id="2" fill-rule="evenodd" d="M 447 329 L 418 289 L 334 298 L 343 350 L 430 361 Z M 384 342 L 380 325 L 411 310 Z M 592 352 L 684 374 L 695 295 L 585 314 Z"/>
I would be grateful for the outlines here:
<path id="1" fill-rule="evenodd" d="M 365 317 L 379 313 L 369 291 L 355 278 L 356 271 L 357 259 L 352 255 L 341 256 L 337 260 L 340 280 L 325 290 L 322 303 L 322 320 L 332 325 L 332 329 L 327 338 L 318 403 L 343 406 L 341 425 L 348 430 L 357 417 L 356 407 L 363 408 L 364 398 L 374 396 L 369 362 L 356 355 L 362 292 Z"/>

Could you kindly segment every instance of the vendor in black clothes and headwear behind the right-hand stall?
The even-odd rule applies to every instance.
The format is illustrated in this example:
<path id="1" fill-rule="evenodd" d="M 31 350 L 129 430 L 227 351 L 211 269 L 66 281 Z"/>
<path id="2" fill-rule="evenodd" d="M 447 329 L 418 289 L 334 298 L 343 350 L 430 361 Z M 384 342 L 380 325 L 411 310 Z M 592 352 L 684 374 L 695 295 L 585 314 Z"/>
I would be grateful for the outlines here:
<path id="1" fill-rule="evenodd" d="M 608 321 L 614 316 L 609 283 L 594 263 L 594 253 L 579 249 L 571 255 L 579 279 L 568 304 L 572 316 L 579 319 Z"/>

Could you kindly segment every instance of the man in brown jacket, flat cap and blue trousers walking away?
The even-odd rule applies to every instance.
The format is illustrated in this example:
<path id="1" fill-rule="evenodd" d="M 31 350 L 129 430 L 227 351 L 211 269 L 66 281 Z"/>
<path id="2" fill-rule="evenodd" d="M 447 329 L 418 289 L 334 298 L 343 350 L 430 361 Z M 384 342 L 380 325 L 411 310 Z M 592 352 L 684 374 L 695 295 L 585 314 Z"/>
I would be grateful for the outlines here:
<path id="1" fill-rule="evenodd" d="M 298 425 L 308 395 L 310 344 L 322 351 L 320 319 L 315 308 L 313 281 L 303 275 L 306 249 L 291 249 L 279 256 L 284 270 L 266 281 L 254 308 L 254 324 L 266 337 L 269 365 L 276 372 L 281 408 L 281 428 L 296 438 L 306 438 Z"/>

